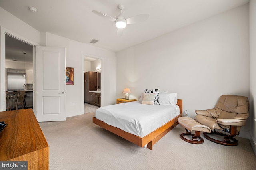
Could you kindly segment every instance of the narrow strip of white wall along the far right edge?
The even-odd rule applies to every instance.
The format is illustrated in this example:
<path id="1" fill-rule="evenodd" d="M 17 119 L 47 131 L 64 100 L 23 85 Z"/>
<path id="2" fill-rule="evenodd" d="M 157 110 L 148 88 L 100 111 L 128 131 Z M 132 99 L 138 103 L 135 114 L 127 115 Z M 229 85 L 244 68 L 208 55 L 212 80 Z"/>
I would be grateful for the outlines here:
<path id="1" fill-rule="evenodd" d="M 250 140 L 256 155 L 256 0 L 250 0 Z"/>

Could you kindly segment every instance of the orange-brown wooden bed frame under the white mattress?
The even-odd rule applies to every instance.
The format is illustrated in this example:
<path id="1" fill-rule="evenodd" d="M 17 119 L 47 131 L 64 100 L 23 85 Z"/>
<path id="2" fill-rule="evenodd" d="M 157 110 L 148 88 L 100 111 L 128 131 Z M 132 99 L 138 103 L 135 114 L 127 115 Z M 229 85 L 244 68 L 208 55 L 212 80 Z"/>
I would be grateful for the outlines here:
<path id="1" fill-rule="evenodd" d="M 136 136 L 134 134 L 130 134 L 128 132 L 125 132 L 124 130 L 121 130 L 120 128 L 113 127 L 111 125 L 108 125 L 107 123 L 100 121 L 96 119 L 95 117 L 92 118 L 92 122 L 96 125 L 99 125 L 100 127 L 138 145 L 138 146 L 145 146 L 147 145 L 147 148 L 153 150 L 153 145 L 160 140 L 164 135 L 166 135 L 170 130 L 172 130 L 174 127 L 176 127 L 178 123 L 178 118 L 182 116 L 182 99 L 178 99 L 177 105 L 180 107 L 180 114 L 176 116 L 174 119 L 170 120 L 166 124 L 162 125 L 161 127 L 157 128 L 150 134 L 144 136 L 143 138 Z"/>

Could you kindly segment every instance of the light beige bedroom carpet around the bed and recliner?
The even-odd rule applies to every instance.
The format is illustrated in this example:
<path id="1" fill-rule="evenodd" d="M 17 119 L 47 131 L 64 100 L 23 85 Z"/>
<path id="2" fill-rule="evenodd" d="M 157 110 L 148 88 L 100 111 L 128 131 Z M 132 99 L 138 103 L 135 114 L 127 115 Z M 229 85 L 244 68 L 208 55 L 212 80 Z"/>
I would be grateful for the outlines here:
<path id="1" fill-rule="evenodd" d="M 255 170 L 256 156 L 248 139 L 222 146 L 204 138 L 184 142 L 180 125 L 154 146 L 144 149 L 92 123 L 95 113 L 41 122 L 50 146 L 50 170 Z"/>

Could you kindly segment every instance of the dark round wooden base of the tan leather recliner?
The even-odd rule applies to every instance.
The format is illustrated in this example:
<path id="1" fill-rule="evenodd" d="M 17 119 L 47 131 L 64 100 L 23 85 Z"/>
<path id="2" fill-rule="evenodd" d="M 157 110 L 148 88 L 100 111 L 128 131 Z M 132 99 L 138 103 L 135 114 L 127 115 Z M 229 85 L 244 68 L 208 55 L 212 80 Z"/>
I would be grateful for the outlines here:
<path id="1" fill-rule="evenodd" d="M 219 132 L 211 132 L 210 134 L 217 134 L 217 135 L 221 135 L 221 136 L 224 136 L 224 141 L 220 141 L 220 140 L 216 140 L 214 138 L 211 138 L 210 136 L 208 136 L 208 134 L 206 132 L 203 133 L 204 134 L 204 137 L 214 143 L 217 143 L 217 144 L 222 144 L 222 145 L 225 145 L 225 146 L 237 146 L 238 145 L 238 140 L 236 140 L 235 138 L 233 138 L 233 136 L 231 136 L 231 134 L 228 136 L 226 134 L 223 134 L 223 133 L 219 133 Z M 230 139 L 233 141 L 231 142 Z"/>

